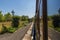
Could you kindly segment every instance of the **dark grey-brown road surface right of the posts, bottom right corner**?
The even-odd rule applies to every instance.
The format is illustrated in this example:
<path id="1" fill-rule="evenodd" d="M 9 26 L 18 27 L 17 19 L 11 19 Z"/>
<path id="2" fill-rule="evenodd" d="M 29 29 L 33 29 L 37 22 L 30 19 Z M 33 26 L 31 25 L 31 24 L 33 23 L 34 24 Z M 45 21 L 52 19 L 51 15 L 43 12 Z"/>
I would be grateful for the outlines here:
<path id="1" fill-rule="evenodd" d="M 51 27 L 48 28 L 48 35 L 52 40 L 60 40 L 60 32 Z"/>

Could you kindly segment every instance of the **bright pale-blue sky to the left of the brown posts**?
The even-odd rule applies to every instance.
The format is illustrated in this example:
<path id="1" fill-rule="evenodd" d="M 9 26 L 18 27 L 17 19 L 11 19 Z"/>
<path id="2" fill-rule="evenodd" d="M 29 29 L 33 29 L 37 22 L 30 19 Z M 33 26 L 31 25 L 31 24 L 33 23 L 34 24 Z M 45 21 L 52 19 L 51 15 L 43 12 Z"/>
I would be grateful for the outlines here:
<path id="1" fill-rule="evenodd" d="M 0 0 L 0 10 L 4 14 L 14 10 L 15 15 L 32 17 L 35 15 L 35 0 Z"/>

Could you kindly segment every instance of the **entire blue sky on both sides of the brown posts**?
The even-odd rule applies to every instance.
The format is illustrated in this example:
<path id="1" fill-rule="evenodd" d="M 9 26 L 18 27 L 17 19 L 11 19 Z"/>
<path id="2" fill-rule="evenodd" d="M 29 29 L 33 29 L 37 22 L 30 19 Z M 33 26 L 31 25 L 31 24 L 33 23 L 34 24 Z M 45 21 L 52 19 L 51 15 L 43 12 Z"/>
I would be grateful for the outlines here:
<path id="1" fill-rule="evenodd" d="M 42 7 L 41 7 L 42 8 Z M 48 0 L 48 15 L 57 13 L 60 8 L 60 0 Z M 15 15 L 35 15 L 35 0 L 0 0 L 0 10 L 3 14 L 15 11 Z"/>

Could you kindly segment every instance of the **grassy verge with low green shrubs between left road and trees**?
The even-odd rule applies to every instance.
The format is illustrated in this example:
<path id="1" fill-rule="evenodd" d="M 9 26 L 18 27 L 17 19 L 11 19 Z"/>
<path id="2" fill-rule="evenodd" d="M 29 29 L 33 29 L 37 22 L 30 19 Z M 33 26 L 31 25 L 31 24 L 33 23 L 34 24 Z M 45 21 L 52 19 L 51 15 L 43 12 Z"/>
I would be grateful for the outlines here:
<path id="1" fill-rule="evenodd" d="M 27 24 L 28 24 L 28 21 L 20 21 L 19 22 L 19 27 L 13 27 L 13 26 L 10 26 L 11 22 L 1 22 L 0 23 L 0 26 L 1 24 L 4 24 L 2 25 L 2 30 L 0 30 L 0 34 L 3 34 L 3 33 L 14 33 L 17 29 L 21 28 L 21 27 L 25 27 Z"/>

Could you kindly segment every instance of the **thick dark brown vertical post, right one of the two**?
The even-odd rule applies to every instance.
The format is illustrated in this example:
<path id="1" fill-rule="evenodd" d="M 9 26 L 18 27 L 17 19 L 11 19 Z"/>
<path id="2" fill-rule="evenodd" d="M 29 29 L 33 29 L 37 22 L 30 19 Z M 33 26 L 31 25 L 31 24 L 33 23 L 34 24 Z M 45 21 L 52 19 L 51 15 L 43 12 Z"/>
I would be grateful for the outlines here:
<path id="1" fill-rule="evenodd" d="M 42 0 L 42 13 L 43 13 L 43 40 L 48 40 L 47 0 Z"/>

